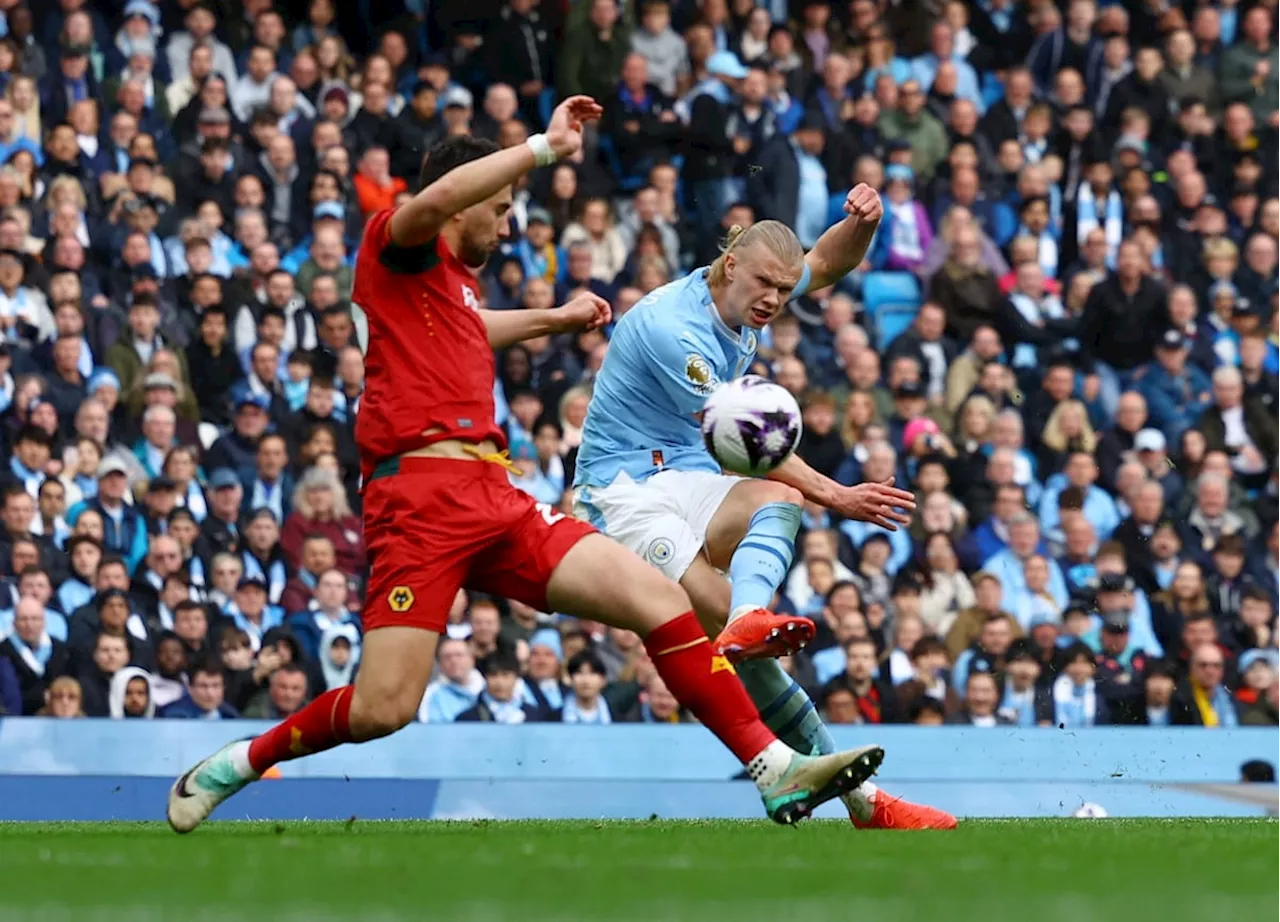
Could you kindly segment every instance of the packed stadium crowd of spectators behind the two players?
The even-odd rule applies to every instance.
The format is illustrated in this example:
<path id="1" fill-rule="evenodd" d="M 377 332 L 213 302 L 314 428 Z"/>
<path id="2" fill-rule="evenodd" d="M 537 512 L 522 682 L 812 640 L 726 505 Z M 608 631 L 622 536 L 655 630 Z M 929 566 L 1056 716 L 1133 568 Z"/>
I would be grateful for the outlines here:
<path id="1" fill-rule="evenodd" d="M 808 507 L 778 610 L 833 724 L 1280 725 L 1275 0 L 0 0 L 0 715 L 279 718 L 351 680 L 365 218 L 444 136 L 605 106 L 485 303 L 622 315 L 731 224 L 864 265 L 755 371 Z M 568 511 L 608 332 L 498 356 Z M 410 604 L 411 599 L 407 601 Z M 685 720 L 639 639 L 460 594 L 424 721 Z"/>

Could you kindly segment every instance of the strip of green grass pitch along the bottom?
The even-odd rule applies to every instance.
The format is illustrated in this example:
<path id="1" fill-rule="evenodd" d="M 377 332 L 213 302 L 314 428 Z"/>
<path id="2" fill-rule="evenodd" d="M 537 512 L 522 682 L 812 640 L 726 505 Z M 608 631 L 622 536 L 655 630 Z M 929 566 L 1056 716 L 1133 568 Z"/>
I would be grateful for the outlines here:
<path id="1" fill-rule="evenodd" d="M 1280 912 L 1280 822 L 0 825 L 0 919 L 1215 922 Z"/>

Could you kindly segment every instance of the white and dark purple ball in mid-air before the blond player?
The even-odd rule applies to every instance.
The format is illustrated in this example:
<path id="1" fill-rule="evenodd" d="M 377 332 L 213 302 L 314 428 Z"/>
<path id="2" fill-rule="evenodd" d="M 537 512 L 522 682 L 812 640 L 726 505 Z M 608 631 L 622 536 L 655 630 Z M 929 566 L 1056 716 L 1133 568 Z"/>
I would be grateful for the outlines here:
<path id="1" fill-rule="evenodd" d="M 707 398 L 703 441 L 724 470 L 768 474 L 800 443 L 800 405 L 786 388 L 764 378 L 736 378 Z"/>

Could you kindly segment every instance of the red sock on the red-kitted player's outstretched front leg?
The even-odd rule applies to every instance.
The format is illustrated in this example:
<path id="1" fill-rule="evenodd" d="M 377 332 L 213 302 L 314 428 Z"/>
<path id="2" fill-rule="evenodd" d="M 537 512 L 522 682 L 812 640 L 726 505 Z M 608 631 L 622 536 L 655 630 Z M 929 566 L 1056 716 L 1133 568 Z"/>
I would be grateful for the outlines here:
<path id="1" fill-rule="evenodd" d="M 712 651 L 701 625 L 686 612 L 644 642 L 676 699 L 746 764 L 776 736 L 760 721 L 733 666 Z"/>

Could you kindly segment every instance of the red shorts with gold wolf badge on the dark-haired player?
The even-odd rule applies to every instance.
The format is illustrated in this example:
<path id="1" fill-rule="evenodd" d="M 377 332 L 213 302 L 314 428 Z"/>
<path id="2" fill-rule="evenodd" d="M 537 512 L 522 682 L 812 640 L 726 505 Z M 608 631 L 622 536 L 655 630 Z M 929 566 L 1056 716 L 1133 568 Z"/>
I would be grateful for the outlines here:
<path id="1" fill-rule="evenodd" d="M 443 633 L 460 588 L 547 611 L 547 584 L 593 529 L 511 485 L 486 461 L 413 457 L 365 484 L 371 572 L 366 630 L 401 625 Z"/>

